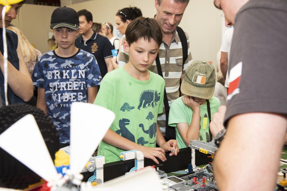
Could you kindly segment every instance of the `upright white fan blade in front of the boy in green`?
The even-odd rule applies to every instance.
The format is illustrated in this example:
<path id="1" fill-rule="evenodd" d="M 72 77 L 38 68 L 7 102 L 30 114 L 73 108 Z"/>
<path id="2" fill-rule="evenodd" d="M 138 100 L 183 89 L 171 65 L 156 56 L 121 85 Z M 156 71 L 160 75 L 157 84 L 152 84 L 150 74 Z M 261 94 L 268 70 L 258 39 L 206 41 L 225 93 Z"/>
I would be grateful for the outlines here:
<path id="1" fill-rule="evenodd" d="M 74 102 L 71 106 L 70 171 L 77 174 L 102 141 L 115 118 L 114 112 L 94 104 Z"/>

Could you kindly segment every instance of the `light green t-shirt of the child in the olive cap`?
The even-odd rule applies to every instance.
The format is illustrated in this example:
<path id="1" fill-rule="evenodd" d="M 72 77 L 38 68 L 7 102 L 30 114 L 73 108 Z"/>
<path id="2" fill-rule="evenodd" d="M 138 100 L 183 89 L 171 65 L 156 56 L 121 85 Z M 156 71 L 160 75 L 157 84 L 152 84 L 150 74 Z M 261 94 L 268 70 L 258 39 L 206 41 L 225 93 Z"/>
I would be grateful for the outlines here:
<path id="1" fill-rule="evenodd" d="M 209 99 L 210 103 L 210 113 L 211 113 L 211 120 L 213 113 L 216 113 L 218 111 L 218 108 L 220 106 L 220 101 L 217 97 L 212 97 Z M 192 110 L 190 107 L 186 106 L 181 97 L 174 100 L 173 103 L 170 106 L 169 110 L 169 117 L 168 117 L 168 125 L 175 127 L 176 132 L 176 140 L 178 141 L 178 147 L 185 148 L 188 147 L 187 144 L 185 144 L 183 138 L 180 136 L 180 133 L 178 132 L 178 128 L 176 127 L 177 123 L 188 123 L 190 125 L 192 118 Z M 210 141 L 209 136 L 209 117 L 207 112 L 207 102 L 205 102 L 204 105 L 200 106 L 200 130 L 199 130 L 199 137 L 198 140 L 200 141 Z"/>

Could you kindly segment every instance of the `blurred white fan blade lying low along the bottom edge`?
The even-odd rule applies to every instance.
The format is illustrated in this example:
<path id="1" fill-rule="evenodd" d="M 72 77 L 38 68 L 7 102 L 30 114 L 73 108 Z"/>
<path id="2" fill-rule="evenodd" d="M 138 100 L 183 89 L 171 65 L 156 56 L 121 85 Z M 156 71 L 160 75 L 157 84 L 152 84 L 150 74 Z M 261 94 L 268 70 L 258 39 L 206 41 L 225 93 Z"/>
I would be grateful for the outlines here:
<path id="1" fill-rule="evenodd" d="M 143 184 L 143 181 L 145 184 Z M 143 168 L 142 170 L 136 172 L 134 175 L 123 175 L 119 178 L 109 180 L 105 182 L 103 186 L 93 187 L 92 189 L 93 191 L 162 191 L 158 174 L 151 167 Z"/>

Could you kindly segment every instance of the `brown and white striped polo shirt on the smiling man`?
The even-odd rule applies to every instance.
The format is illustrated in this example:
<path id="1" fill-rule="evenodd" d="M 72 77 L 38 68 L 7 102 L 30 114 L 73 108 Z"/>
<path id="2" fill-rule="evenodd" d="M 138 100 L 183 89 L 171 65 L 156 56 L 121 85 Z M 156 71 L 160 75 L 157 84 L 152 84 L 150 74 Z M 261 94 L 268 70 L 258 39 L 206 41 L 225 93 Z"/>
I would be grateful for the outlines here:
<path id="1" fill-rule="evenodd" d="M 175 30 L 173 32 L 173 41 L 170 46 L 163 41 L 158 51 L 159 60 L 161 62 L 161 70 L 163 72 L 163 78 L 166 82 L 166 93 L 168 97 L 169 105 L 179 97 L 179 81 L 181 75 L 185 73 L 185 69 L 192 63 L 192 56 L 189 48 L 189 36 L 185 33 L 187 43 L 188 43 L 188 58 L 186 59 L 183 71 L 183 53 L 182 45 L 178 32 Z M 123 41 L 126 40 L 124 37 Z M 129 54 L 124 51 L 123 45 L 121 45 L 121 54 L 119 58 L 119 67 L 124 66 L 129 61 Z M 149 68 L 150 71 L 158 73 L 156 68 L 156 61 L 153 62 L 152 66 Z M 158 125 L 161 129 L 163 135 L 165 135 L 166 127 L 166 115 L 163 106 L 163 113 L 158 115 Z"/>

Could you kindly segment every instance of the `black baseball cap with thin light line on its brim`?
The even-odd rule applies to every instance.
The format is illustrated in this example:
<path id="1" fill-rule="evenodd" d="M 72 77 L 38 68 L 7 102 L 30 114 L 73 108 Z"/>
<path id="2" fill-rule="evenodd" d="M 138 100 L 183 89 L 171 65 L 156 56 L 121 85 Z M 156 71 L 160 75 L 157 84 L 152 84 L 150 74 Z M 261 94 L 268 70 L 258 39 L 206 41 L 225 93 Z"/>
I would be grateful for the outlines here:
<path id="1" fill-rule="evenodd" d="M 68 27 L 73 30 L 79 29 L 78 13 L 69 7 L 56 8 L 51 16 L 50 29 Z"/>

